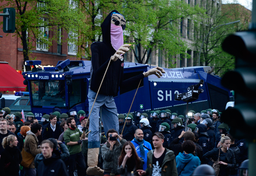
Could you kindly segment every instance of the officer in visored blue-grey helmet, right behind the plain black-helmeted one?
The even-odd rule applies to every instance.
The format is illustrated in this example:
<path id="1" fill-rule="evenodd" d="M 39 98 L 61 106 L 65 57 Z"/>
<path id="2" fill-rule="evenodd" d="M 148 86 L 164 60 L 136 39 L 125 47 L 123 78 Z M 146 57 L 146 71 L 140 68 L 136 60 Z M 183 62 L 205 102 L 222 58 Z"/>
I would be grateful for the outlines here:
<path id="1" fill-rule="evenodd" d="M 203 114 L 203 115 L 208 115 L 208 114 Z M 207 126 L 208 150 L 211 151 L 215 147 L 215 132 L 213 130 L 215 127 L 213 126 L 213 121 L 211 119 L 204 119 L 201 124 L 204 124 Z"/>

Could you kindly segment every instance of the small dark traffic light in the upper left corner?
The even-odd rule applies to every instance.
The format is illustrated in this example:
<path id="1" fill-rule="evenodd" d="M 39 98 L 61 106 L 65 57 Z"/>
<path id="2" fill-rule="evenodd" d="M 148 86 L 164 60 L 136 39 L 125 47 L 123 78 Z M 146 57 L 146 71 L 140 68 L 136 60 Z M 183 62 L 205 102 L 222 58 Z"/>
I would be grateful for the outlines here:
<path id="1" fill-rule="evenodd" d="M 15 9 L 14 8 L 4 8 L 3 31 L 4 33 L 15 32 Z"/>

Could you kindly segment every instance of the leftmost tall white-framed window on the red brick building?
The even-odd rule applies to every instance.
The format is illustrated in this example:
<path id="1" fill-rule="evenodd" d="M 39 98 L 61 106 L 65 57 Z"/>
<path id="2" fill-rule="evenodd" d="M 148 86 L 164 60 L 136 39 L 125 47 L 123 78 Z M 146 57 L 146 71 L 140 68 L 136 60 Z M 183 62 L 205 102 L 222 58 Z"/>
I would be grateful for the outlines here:
<path id="1" fill-rule="evenodd" d="M 43 24 L 48 23 L 48 19 L 46 18 L 42 18 L 41 20 L 43 21 Z M 36 40 L 36 50 L 42 50 L 47 52 L 48 44 L 46 43 L 46 41 L 48 41 L 48 38 L 49 38 L 48 27 L 46 26 L 40 27 L 39 30 L 40 30 L 41 36 L 39 36 Z"/>

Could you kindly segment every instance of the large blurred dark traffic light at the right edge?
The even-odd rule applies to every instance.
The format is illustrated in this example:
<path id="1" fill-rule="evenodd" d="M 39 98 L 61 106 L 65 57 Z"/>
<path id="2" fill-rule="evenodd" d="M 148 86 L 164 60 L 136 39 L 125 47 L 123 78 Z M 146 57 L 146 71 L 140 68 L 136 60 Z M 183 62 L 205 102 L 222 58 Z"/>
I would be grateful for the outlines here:
<path id="1" fill-rule="evenodd" d="M 236 57 L 234 71 L 224 74 L 221 83 L 234 90 L 235 104 L 221 114 L 237 139 L 256 138 L 256 31 L 237 32 L 228 36 L 222 49 Z"/>

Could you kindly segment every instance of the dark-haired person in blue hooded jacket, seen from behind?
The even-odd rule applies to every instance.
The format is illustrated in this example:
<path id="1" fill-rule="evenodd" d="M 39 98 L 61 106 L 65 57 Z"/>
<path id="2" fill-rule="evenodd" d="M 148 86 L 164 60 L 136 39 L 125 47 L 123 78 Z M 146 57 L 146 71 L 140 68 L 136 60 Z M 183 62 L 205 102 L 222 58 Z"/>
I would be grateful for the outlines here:
<path id="1" fill-rule="evenodd" d="M 182 144 L 183 153 L 176 156 L 178 176 L 192 175 L 197 166 L 201 164 L 199 157 L 194 156 L 196 145 L 191 140 Z"/>

